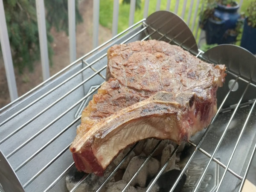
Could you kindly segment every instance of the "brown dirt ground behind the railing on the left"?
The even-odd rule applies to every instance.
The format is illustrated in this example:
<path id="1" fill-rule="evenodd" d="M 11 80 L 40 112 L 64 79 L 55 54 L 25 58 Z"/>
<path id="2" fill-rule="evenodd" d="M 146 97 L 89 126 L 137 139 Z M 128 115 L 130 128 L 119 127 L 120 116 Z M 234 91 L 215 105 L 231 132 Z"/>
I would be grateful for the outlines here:
<path id="1" fill-rule="evenodd" d="M 76 26 L 76 54 L 77 58 L 85 55 L 93 49 L 93 1 L 81 0 L 79 3 L 79 11 L 83 17 L 83 23 Z M 69 58 L 69 39 L 65 32 L 57 32 L 51 29 L 54 37 L 52 48 L 54 50 L 53 66 L 50 67 L 50 75 L 54 75 L 68 64 Z M 99 26 L 99 44 L 104 43 L 112 37 L 111 30 Z M 36 61 L 34 71 L 30 73 L 27 69 L 20 75 L 15 69 L 15 77 L 18 95 L 21 96 L 33 87 L 43 81 L 41 61 Z M 3 64 L 3 58 L 0 58 L 0 108 L 10 102 L 9 90 L 7 85 L 6 73 Z"/>

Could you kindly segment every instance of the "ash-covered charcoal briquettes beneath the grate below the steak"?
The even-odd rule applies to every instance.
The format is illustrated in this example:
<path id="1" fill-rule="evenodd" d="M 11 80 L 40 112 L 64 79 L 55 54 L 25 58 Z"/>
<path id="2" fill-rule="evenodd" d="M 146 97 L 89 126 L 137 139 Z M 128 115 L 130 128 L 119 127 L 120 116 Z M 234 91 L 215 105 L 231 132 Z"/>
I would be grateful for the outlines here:
<path id="1" fill-rule="evenodd" d="M 111 177 L 108 183 L 104 186 L 101 192 L 120 192 L 129 182 L 131 177 L 138 171 L 140 166 L 146 160 L 148 155 L 157 145 L 159 140 L 147 139 L 140 141 L 134 151 L 126 157 L 126 160 L 122 163 L 116 173 Z M 174 151 L 176 144 L 170 140 L 161 141 L 154 154 L 145 164 L 143 169 L 126 190 L 127 192 L 145 192 L 147 186 L 152 182 L 157 175 L 161 167 L 166 163 L 168 158 Z M 179 147 L 179 150 L 173 155 L 166 169 L 159 177 L 157 182 L 151 189 L 152 192 L 165 192 L 169 191 L 172 184 L 175 182 L 177 176 L 180 173 L 179 160 L 180 153 L 183 150 L 184 145 Z M 87 179 L 79 186 L 78 192 L 94 192 L 96 191 L 106 177 L 113 171 L 113 169 L 122 161 L 122 159 L 128 154 L 131 147 L 125 148 L 116 158 L 113 160 L 110 166 L 105 170 L 102 177 L 98 177 L 94 174 L 90 174 Z M 76 168 L 72 169 L 66 177 L 67 189 L 70 191 L 76 183 L 84 176 L 84 173 L 78 172 Z M 176 187 L 179 191 L 186 181 L 186 175 L 183 175 L 182 179 Z M 176 191 L 176 190 L 175 190 Z"/>

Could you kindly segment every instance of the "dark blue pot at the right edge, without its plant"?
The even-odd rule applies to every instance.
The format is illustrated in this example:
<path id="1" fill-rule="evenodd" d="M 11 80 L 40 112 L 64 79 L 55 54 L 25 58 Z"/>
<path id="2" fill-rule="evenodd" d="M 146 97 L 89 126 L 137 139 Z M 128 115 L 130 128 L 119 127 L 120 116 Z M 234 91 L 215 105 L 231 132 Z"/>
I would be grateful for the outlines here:
<path id="1" fill-rule="evenodd" d="M 256 28 L 249 26 L 247 19 L 244 20 L 244 31 L 240 46 L 256 54 Z"/>

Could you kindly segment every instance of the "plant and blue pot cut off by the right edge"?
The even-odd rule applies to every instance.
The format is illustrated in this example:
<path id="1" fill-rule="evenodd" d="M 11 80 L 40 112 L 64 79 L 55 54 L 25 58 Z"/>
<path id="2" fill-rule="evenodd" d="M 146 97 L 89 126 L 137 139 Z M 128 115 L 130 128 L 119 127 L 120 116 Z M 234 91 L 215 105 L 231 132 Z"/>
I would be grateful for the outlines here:
<path id="1" fill-rule="evenodd" d="M 256 54 L 256 0 L 252 1 L 248 6 L 246 16 L 241 47 Z"/>

